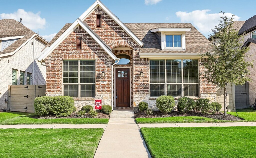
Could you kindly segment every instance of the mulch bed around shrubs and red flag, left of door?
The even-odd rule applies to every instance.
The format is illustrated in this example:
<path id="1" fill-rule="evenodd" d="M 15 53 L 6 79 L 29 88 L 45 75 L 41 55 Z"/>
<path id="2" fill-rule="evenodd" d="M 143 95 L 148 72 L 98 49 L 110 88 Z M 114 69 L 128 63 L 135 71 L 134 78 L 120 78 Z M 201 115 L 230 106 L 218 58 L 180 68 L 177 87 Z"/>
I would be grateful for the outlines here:
<path id="1" fill-rule="evenodd" d="M 87 113 L 84 116 L 77 116 L 76 112 L 71 113 L 71 115 L 66 117 L 56 117 L 55 115 L 46 115 L 46 116 L 32 116 L 31 118 L 38 118 L 38 119 L 58 119 L 58 118 L 91 118 L 90 115 Z M 109 115 L 98 112 L 97 117 L 95 118 L 109 118 Z"/>

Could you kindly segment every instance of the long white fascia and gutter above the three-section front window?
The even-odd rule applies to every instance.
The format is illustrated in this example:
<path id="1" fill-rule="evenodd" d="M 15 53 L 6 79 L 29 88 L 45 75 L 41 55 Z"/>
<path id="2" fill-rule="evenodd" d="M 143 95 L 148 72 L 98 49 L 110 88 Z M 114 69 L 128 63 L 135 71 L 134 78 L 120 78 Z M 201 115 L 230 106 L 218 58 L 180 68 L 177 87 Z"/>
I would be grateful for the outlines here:
<path id="1" fill-rule="evenodd" d="M 149 59 L 199 59 L 198 53 L 140 53 L 140 58 Z"/>

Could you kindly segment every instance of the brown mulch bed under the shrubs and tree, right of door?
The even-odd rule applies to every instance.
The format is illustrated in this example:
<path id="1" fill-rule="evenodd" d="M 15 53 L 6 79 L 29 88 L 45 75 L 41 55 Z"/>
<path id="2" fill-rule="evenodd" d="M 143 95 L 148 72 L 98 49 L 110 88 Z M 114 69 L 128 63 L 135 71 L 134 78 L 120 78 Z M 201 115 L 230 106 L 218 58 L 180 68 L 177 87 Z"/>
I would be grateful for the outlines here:
<path id="1" fill-rule="evenodd" d="M 227 121 L 238 121 L 242 120 L 241 118 L 237 118 L 236 116 L 227 114 L 225 117 L 223 112 L 216 112 L 213 115 L 204 115 L 200 111 L 190 111 L 186 114 L 180 114 L 178 111 L 172 111 L 168 114 L 163 114 L 160 111 L 153 111 L 152 115 L 146 115 L 144 112 L 138 112 L 134 114 L 134 118 L 156 118 L 156 117 L 172 117 L 172 116 L 201 116 L 201 117 L 208 117 L 208 118 L 214 118 L 216 120 L 227 120 Z"/>

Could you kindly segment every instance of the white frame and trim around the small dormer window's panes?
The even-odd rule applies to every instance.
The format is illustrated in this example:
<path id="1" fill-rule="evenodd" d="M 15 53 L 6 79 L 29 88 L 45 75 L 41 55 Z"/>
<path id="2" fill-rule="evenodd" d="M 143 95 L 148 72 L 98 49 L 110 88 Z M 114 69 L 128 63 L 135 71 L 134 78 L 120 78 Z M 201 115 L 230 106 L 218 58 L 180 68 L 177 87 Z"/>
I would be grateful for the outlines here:
<path id="1" fill-rule="evenodd" d="M 166 35 L 180 35 L 181 47 L 174 47 L 174 36 L 173 36 L 173 47 L 166 47 Z M 162 36 L 162 49 L 163 50 L 185 50 L 185 33 L 161 33 Z"/>

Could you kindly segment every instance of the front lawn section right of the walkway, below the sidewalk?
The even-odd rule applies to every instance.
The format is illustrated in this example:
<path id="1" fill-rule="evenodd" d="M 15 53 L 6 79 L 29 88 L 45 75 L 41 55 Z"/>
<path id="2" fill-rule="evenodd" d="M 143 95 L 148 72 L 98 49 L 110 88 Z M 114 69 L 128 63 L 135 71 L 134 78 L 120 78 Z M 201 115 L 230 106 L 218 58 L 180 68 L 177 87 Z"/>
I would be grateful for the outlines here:
<path id="1" fill-rule="evenodd" d="M 141 128 L 152 157 L 255 157 L 256 127 Z"/>

